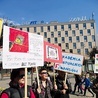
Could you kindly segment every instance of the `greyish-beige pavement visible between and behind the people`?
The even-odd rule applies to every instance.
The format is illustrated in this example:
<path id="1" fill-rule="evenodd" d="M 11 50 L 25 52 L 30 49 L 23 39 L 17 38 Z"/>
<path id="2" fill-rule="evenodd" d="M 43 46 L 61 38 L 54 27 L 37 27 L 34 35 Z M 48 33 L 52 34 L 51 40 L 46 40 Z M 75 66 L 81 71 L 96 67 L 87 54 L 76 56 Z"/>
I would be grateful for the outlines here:
<path id="1" fill-rule="evenodd" d="M 36 77 L 36 73 L 33 74 L 34 77 Z M 33 77 L 33 78 L 34 78 Z M 75 79 L 73 74 L 68 74 L 68 78 L 71 82 L 72 85 L 72 90 L 74 89 L 74 84 L 75 84 Z M 10 77 L 9 76 L 5 76 L 3 77 L 3 79 L 1 79 L 1 74 L 0 74 L 0 87 L 1 88 L 8 88 L 9 87 L 9 82 L 10 82 Z M 31 85 L 32 81 L 31 81 L 31 75 L 27 76 L 27 84 Z M 77 90 L 76 90 L 77 91 Z M 75 94 L 70 94 L 70 98 L 96 98 L 91 97 L 92 95 L 87 91 L 86 96 L 83 96 L 83 94 L 79 94 L 78 92 L 76 92 Z"/>

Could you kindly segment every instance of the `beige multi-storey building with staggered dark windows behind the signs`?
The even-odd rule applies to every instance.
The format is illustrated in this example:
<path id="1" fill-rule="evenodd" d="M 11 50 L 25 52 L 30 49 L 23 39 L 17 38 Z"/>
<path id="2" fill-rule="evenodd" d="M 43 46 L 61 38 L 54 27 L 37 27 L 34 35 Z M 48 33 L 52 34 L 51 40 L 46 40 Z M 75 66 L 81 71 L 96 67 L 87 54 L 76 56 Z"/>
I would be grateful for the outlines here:
<path id="1" fill-rule="evenodd" d="M 50 22 L 19 25 L 16 28 L 44 36 L 44 40 L 61 46 L 65 52 L 88 57 L 88 52 L 96 46 L 95 20 L 73 22 Z"/>

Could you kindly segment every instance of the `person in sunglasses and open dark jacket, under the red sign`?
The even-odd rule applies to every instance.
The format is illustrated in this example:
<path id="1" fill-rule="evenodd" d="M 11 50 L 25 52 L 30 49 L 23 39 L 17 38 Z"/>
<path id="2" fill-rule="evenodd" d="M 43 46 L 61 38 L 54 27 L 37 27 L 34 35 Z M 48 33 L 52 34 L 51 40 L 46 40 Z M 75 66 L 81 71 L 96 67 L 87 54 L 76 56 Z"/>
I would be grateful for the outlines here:
<path id="1" fill-rule="evenodd" d="M 35 82 L 32 85 L 32 89 L 36 95 L 37 98 L 53 98 L 54 94 L 54 88 L 53 84 L 51 82 L 51 79 L 49 79 L 47 69 L 42 67 L 39 70 L 39 85 L 38 81 L 35 80 Z M 57 87 L 55 86 L 55 89 Z"/>

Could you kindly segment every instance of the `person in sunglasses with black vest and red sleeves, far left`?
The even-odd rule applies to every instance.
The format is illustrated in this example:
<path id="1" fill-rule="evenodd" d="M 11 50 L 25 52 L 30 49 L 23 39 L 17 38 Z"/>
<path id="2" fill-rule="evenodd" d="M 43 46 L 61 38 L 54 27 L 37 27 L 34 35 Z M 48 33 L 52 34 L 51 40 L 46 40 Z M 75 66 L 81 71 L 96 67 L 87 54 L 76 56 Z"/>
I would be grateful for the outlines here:
<path id="1" fill-rule="evenodd" d="M 0 98 L 23 98 L 25 94 L 25 70 L 23 68 L 13 69 L 10 79 L 10 87 L 1 93 Z M 35 98 L 30 86 L 27 86 L 27 97 Z"/>

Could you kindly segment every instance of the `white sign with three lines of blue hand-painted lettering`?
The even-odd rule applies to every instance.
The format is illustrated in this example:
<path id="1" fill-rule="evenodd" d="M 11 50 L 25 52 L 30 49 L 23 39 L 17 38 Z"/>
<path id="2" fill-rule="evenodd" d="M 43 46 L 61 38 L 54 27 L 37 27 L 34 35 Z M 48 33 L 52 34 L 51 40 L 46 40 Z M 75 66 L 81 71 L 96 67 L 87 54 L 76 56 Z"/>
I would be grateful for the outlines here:
<path id="1" fill-rule="evenodd" d="M 62 53 L 63 63 L 56 63 L 54 69 L 61 70 L 64 72 L 69 72 L 73 74 L 81 74 L 83 56 L 72 54 L 72 53 Z"/>

